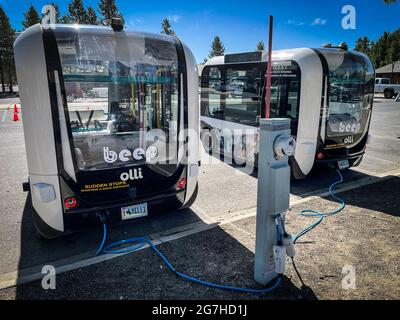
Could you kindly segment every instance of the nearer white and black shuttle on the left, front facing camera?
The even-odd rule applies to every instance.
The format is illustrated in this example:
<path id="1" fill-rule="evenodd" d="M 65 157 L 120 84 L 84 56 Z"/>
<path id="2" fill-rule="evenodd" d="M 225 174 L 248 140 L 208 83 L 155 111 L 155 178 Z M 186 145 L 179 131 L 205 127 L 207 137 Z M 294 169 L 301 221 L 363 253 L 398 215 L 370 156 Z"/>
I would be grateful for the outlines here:
<path id="1" fill-rule="evenodd" d="M 18 37 L 14 52 L 25 189 L 41 236 L 86 228 L 99 216 L 118 223 L 193 203 L 198 75 L 181 41 L 38 24 Z M 188 129 L 194 138 L 181 138 Z"/>

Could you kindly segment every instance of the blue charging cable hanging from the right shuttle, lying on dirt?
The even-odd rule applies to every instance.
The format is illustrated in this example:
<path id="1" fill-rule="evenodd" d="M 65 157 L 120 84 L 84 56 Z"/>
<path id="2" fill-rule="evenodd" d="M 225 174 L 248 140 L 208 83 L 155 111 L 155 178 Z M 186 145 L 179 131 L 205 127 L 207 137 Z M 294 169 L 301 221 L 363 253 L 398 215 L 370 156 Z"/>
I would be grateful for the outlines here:
<path id="1" fill-rule="evenodd" d="M 337 186 L 338 184 L 343 182 L 343 176 L 340 173 L 340 171 L 338 169 L 336 169 L 340 179 L 334 183 L 332 183 L 329 187 L 329 194 L 332 198 L 334 198 L 338 203 L 339 203 L 339 207 L 333 211 L 329 211 L 329 212 L 321 212 L 319 210 L 313 210 L 313 209 L 304 209 L 301 210 L 299 212 L 299 215 L 303 216 L 303 217 L 317 217 L 318 220 L 316 220 L 315 222 L 313 222 L 312 224 L 310 224 L 309 226 L 305 227 L 304 229 L 300 230 L 299 233 L 297 233 L 294 237 L 293 237 L 293 243 L 296 243 L 296 241 L 304 236 L 307 232 L 310 232 L 312 229 L 314 229 L 317 225 L 319 225 L 322 220 L 324 220 L 324 218 L 329 217 L 329 216 L 333 216 L 339 212 L 341 212 L 345 207 L 346 204 L 344 203 L 344 201 L 342 199 L 340 199 L 339 197 L 337 197 L 334 193 L 333 193 L 333 188 L 335 186 Z"/>

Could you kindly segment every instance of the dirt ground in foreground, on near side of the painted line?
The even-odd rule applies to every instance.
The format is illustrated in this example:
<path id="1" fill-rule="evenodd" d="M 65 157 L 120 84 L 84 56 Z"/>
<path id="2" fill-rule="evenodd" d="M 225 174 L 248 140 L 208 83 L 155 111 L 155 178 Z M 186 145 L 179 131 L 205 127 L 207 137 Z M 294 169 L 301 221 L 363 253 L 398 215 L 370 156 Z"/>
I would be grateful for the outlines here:
<path id="1" fill-rule="evenodd" d="M 345 210 L 302 237 L 279 288 L 254 295 L 192 284 L 166 269 L 150 250 L 121 256 L 57 276 L 56 290 L 40 282 L 0 290 L 0 299 L 399 299 L 400 178 L 340 194 Z M 304 208 L 334 209 L 331 198 L 294 206 L 287 215 L 292 234 L 312 219 Z M 203 280 L 260 288 L 253 281 L 255 217 L 164 243 L 158 248 L 175 268 Z M 355 268 L 355 289 L 344 289 L 343 267 Z M 347 270 L 345 268 L 345 270 Z M 354 269 L 353 269 L 354 270 Z"/>

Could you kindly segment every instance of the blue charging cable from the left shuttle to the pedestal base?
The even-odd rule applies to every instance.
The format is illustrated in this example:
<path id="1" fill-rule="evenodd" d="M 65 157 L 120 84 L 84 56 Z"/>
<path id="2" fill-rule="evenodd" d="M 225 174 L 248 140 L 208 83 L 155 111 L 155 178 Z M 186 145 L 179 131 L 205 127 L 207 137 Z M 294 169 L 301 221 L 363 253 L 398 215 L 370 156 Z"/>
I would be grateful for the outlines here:
<path id="1" fill-rule="evenodd" d="M 276 277 L 274 284 L 271 287 L 266 288 L 266 289 L 240 288 L 240 287 L 225 286 L 225 285 L 220 285 L 220 284 L 216 284 L 216 283 L 212 283 L 212 282 L 208 282 L 208 281 L 203 281 L 203 280 L 188 276 L 187 274 L 184 274 L 184 273 L 176 270 L 174 268 L 174 266 L 168 261 L 168 259 L 156 248 L 156 246 L 153 244 L 153 242 L 147 237 L 129 238 L 126 240 L 113 242 L 113 243 L 105 246 L 106 238 L 107 238 L 107 226 L 105 223 L 103 223 L 103 240 L 101 241 L 101 244 L 100 244 L 99 248 L 97 249 L 96 256 L 98 256 L 101 253 L 119 254 L 119 253 L 128 253 L 128 252 L 137 251 L 140 248 L 142 248 L 144 245 L 146 245 L 146 243 L 147 243 L 150 246 L 150 248 L 157 254 L 157 256 L 165 263 L 165 265 L 168 267 L 168 269 L 170 271 L 172 271 L 173 273 L 175 273 L 177 276 L 179 276 L 181 278 L 184 278 L 188 281 L 195 282 L 195 283 L 207 286 L 207 287 L 235 291 L 235 292 L 242 292 L 242 293 L 262 294 L 262 293 L 269 293 L 269 292 L 273 291 L 281 283 L 280 276 Z M 115 249 L 115 248 L 118 248 L 118 247 L 126 245 L 126 244 L 132 244 L 132 245 L 129 247 L 121 248 L 121 249 Z"/>

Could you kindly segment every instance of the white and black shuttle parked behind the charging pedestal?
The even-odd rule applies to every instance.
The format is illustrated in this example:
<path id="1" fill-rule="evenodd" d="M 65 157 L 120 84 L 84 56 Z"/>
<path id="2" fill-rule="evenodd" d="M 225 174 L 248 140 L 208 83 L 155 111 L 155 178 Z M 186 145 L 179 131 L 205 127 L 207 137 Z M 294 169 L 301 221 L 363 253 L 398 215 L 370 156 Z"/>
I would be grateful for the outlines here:
<path id="1" fill-rule="evenodd" d="M 207 61 L 201 75 L 201 139 L 206 151 L 257 165 L 266 68 L 266 52 Z M 272 53 L 271 68 L 270 115 L 290 118 L 297 140 L 290 158 L 293 176 L 302 179 L 318 164 L 358 165 L 374 97 L 375 71 L 368 57 L 348 51 L 345 44 L 280 50 Z"/>

